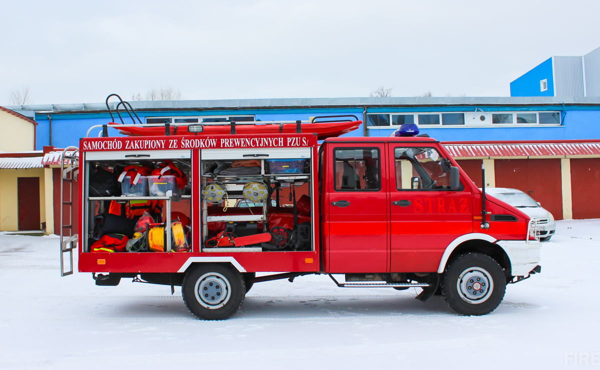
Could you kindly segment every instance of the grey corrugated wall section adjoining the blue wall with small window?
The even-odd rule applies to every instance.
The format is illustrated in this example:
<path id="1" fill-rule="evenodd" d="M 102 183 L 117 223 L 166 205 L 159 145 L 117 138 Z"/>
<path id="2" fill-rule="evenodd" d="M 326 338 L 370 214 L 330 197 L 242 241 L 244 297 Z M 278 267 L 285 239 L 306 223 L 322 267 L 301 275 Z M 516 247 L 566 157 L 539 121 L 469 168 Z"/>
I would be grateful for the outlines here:
<path id="1" fill-rule="evenodd" d="M 556 96 L 584 96 L 583 59 L 580 56 L 554 56 Z"/>

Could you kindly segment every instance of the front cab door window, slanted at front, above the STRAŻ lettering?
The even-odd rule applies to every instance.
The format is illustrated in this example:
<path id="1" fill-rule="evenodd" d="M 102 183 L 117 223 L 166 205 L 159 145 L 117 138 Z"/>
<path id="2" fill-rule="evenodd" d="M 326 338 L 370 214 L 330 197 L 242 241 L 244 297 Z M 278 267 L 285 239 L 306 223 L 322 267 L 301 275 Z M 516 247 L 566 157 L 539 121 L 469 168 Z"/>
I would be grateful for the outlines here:
<path id="1" fill-rule="evenodd" d="M 398 190 L 450 190 L 450 166 L 436 148 L 395 148 Z"/>

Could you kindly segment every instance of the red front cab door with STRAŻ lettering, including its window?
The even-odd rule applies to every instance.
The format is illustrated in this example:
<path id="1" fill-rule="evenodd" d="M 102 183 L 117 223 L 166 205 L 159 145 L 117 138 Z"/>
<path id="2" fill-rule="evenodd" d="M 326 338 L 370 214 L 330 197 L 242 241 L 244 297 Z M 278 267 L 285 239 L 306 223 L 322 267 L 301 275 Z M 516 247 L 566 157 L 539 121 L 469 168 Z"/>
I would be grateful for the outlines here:
<path id="1" fill-rule="evenodd" d="M 451 162 L 434 146 L 388 146 L 391 272 L 435 272 L 445 248 L 473 232 L 470 187 L 451 190 Z"/>

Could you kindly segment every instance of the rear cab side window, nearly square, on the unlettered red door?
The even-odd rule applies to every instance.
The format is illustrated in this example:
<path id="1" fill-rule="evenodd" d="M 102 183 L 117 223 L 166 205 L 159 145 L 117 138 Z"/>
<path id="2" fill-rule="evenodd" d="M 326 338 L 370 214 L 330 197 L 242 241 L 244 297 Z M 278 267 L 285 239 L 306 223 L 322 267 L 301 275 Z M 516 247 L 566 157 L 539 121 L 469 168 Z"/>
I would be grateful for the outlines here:
<path id="1" fill-rule="evenodd" d="M 381 190 L 381 164 L 377 148 L 334 149 L 334 189 L 337 192 Z"/>

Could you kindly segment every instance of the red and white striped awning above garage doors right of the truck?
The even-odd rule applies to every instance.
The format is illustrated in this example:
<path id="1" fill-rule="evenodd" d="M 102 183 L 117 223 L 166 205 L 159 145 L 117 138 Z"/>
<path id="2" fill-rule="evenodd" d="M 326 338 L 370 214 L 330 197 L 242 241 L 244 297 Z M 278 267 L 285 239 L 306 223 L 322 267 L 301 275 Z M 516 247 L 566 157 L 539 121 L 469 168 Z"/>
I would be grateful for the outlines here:
<path id="1" fill-rule="evenodd" d="M 455 158 L 600 156 L 600 142 L 536 142 L 442 145 Z"/>

